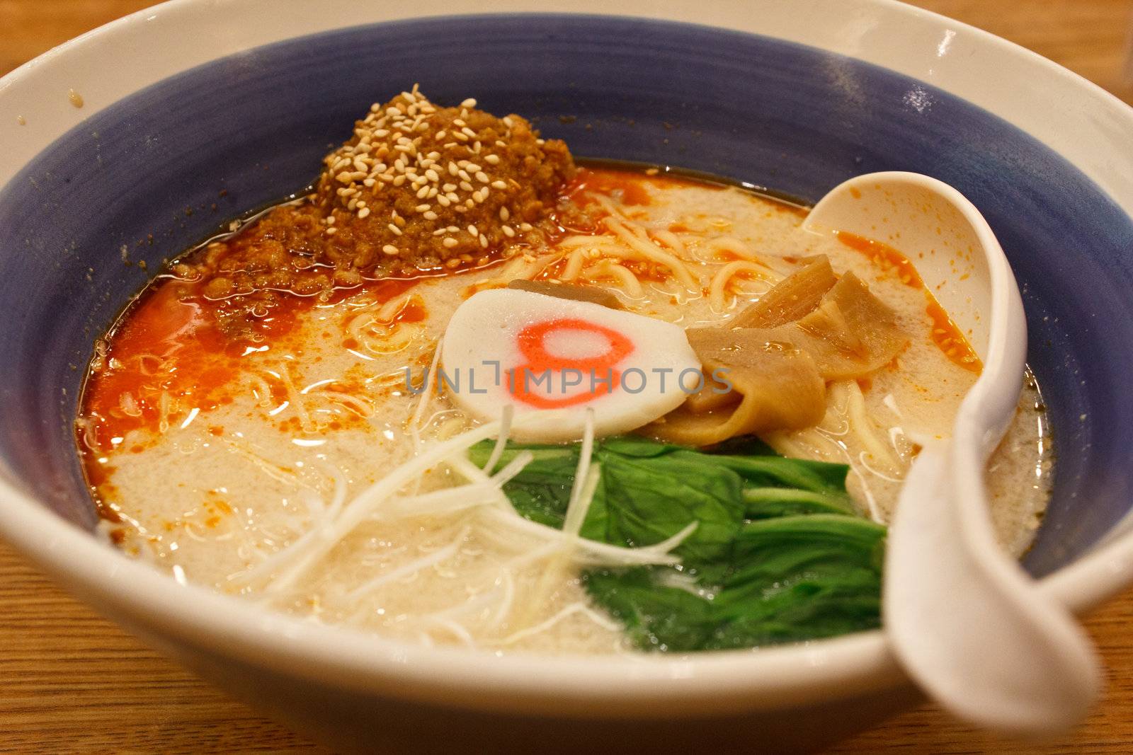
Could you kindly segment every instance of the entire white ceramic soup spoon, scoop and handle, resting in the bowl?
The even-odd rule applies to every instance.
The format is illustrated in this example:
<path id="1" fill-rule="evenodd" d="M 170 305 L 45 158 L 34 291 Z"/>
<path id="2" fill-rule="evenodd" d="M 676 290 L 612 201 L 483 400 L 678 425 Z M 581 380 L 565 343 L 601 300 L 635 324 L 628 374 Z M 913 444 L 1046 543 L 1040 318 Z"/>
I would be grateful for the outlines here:
<path id="1" fill-rule="evenodd" d="M 983 360 L 952 436 L 918 439 L 889 526 L 883 619 L 895 654 L 938 703 L 978 726 L 1038 736 L 1074 724 L 1098 693 L 1097 658 L 1066 609 L 997 544 L 983 484 L 1026 350 L 999 242 L 959 191 L 904 172 L 845 181 L 803 228 L 902 250 Z"/>

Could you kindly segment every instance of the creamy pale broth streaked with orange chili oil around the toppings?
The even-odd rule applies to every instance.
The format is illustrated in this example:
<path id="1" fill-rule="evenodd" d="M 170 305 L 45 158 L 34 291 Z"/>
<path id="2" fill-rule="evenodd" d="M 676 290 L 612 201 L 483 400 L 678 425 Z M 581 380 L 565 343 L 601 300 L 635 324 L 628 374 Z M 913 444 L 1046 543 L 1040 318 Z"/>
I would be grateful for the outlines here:
<path id="1" fill-rule="evenodd" d="M 274 592 L 263 565 L 325 521 L 337 496 L 341 503 L 358 495 L 411 458 L 418 441 L 470 427 L 444 396 L 427 394 L 423 404 L 404 380 L 407 368 L 420 375 L 429 366 L 450 316 L 472 291 L 513 277 L 568 278 L 608 288 L 632 312 L 717 324 L 798 269 L 799 258 L 818 254 L 896 310 L 911 344 L 897 369 L 866 385 L 833 385 L 818 428 L 766 440 L 784 455 L 849 463 L 847 487 L 861 512 L 886 522 L 914 452 L 910 436 L 946 435 L 976 379 L 930 340 L 923 292 L 834 237 L 803 232 L 800 213 L 778 201 L 688 181 L 624 180 L 647 192 L 648 204 L 624 204 L 616 189 L 602 192 L 600 203 L 678 257 L 696 290 L 665 269 L 627 277 L 623 260 L 610 255 L 619 241 L 574 234 L 502 265 L 423 280 L 392 298 L 361 290 L 301 309 L 286 335 L 241 357 L 230 403 L 174 407 L 163 432 L 134 429 L 112 451 L 87 452 L 99 496 L 120 520 L 103 526 L 178 580 L 313 620 L 492 652 L 629 652 L 617 623 L 590 607 L 577 568 L 533 560 L 529 539 L 475 509 L 364 522 Z M 773 273 L 744 268 L 714 297 L 714 277 L 750 255 Z M 1049 492 L 1039 403 L 1029 381 L 988 467 L 996 532 L 1015 555 L 1029 547 Z M 441 489 L 450 478 L 433 470 L 419 490 Z"/>

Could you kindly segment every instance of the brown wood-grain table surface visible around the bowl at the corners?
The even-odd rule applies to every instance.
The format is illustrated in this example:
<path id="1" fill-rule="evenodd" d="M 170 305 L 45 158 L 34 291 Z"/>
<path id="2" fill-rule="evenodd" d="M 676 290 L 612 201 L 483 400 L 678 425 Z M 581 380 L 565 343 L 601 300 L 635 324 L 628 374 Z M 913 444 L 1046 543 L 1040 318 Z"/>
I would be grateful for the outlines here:
<path id="1" fill-rule="evenodd" d="M 0 0 L 0 75 L 145 0 Z M 922 0 L 1133 103 L 1133 0 Z M 1046 745 L 974 731 L 931 705 L 834 753 L 1133 752 L 1133 591 L 1087 619 L 1108 668 L 1096 712 Z M 321 752 L 143 646 L 0 543 L 0 750 Z"/>

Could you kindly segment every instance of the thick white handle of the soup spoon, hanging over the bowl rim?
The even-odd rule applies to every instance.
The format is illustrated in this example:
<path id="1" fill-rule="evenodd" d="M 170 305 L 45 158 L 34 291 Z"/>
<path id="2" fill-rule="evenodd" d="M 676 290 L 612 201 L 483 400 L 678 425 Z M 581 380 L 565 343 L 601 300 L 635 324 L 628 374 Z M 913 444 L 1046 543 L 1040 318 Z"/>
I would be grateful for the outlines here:
<path id="1" fill-rule="evenodd" d="M 956 717 L 1054 733 L 1096 698 L 1097 657 L 1073 616 L 995 542 L 978 445 L 957 434 L 910 469 L 889 529 L 885 630 L 909 675 Z"/>

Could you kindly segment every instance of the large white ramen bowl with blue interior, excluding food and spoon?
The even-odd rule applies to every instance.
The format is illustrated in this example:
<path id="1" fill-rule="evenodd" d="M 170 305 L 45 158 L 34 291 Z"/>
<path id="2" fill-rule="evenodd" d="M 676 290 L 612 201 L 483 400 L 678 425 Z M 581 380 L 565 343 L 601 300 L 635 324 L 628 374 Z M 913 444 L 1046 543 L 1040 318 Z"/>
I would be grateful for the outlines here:
<path id="1" fill-rule="evenodd" d="M 344 748 L 807 749 L 919 700 L 879 632 L 496 658 L 267 612 L 94 537 L 74 434 L 94 338 L 162 260 L 301 189 L 356 113 L 420 83 L 437 102 L 528 115 L 581 156 L 803 200 L 883 170 L 955 186 L 1014 267 L 1055 432 L 1054 496 L 1024 566 L 1076 611 L 1133 582 L 1133 110 L 887 0 L 479 7 L 177 0 L 0 79 L 0 537 L 235 696 Z"/>

